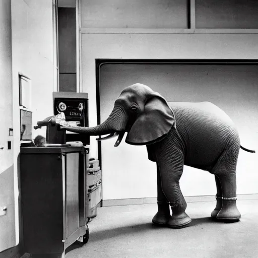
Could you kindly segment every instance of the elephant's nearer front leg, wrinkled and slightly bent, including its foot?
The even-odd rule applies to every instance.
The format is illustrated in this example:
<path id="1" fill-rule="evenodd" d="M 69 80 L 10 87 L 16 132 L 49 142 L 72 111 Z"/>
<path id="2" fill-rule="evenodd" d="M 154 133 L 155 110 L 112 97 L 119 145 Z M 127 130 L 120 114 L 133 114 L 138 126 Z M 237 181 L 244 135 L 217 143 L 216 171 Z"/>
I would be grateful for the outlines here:
<path id="1" fill-rule="evenodd" d="M 182 228 L 187 226 L 191 219 L 185 213 L 186 202 L 179 186 L 179 179 L 183 172 L 183 155 L 179 153 L 175 159 L 175 161 L 166 160 L 163 155 L 160 155 L 158 165 L 162 190 L 172 210 L 172 216 L 167 225 L 171 228 Z"/>

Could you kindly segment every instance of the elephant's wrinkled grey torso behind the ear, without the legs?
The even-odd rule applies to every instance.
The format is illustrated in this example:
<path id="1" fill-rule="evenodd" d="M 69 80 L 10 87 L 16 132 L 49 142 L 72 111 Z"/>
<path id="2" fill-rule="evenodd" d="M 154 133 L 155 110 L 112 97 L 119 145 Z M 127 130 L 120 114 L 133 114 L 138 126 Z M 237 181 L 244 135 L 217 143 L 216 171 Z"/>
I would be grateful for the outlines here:
<path id="1" fill-rule="evenodd" d="M 240 141 L 231 118 L 210 102 L 169 102 L 175 127 L 185 150 L 185 164 L 212 166 L 229 146 L 239 149 Z"/>

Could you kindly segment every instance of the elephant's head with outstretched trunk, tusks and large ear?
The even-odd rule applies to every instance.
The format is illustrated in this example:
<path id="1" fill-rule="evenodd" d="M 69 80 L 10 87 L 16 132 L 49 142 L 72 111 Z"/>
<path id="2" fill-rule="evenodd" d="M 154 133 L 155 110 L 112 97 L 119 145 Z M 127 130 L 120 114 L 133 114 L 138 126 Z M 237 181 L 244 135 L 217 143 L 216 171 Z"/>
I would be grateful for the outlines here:
<path id="1" fill-rule="evenodd" d="M 167 101 L 148 86 L 137 83 L 121 92 L 112 112 L 103 123 L 94 127 L 61 127 L 71 132 L 95 136 L 109 134 L 97 140 L 118 136 L 114 145 L 117 147 L 125 132 L 125 142 L 128 144 L 147 145 L 158 142 L 167 135 L 174 123 L 174 114 Z"/>

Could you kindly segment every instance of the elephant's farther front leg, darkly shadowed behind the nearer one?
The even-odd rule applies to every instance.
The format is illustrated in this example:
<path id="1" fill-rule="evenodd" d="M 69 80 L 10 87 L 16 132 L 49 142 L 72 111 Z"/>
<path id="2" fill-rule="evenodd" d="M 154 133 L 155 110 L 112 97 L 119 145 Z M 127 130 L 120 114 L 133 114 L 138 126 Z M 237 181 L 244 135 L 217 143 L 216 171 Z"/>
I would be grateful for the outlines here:
<path id="1" fill-rule="evenodd" d="M 158 204 L 158 212 L 155 214 L 155 216 L 152 219 L 152 223 L 158 226 L 164 226 L 167 225 L 169 219 L 170 219 L 170 210 L 169 210 L 169 202 L 164 195 L 164 192 L 162 191 L 161 187 L 161 177 L 160 177 L 160 170 L 159 165 L 157 163 L 157 204 Z"/>

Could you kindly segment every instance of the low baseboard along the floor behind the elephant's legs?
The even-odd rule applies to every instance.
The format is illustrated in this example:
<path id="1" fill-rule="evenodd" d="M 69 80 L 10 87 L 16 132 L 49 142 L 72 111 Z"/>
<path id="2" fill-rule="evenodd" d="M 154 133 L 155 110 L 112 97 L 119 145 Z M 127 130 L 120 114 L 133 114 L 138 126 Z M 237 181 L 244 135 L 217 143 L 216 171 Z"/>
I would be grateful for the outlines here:
<path id="1" fill-rule="evenodd" d="M 250 195 L 238 195 L 237 200 L 257 200 L 258 194 Z M 200 202 L 215 202 L 214 196 L 188 196 L 185 197 L 186 203 L 200 203 Z M 102 207 L 107 206 L 124 206 L 124 205 L 140 205 L 140 204 L 156 204 L 157 198 L 133 198 L 133 199 L 115 199 L 115 200 L 103 200 Z"/>

